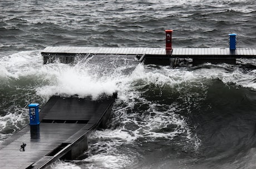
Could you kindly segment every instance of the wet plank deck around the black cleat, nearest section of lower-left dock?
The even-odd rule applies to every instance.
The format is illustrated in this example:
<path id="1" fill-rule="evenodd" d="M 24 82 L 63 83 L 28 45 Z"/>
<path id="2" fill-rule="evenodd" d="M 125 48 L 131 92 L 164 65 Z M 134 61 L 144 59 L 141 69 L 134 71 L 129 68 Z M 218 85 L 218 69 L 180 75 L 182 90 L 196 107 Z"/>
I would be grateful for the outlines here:
<path id="1" fill-rule="evenodd" d="M 27 168 L 47 156 L 53 149 L 65 142 L 85 124 L 49 124 L 41 123 L 40 130 L 34 135 L 27 126 L 22 136 L 16 140 L 6 140 L 7 146 L 0 149 L 0 168 Z M 16 135 L 13 135 L 16 137 Z M 19 151 L 22 142 L 26 143 L 25 151 Z"/>

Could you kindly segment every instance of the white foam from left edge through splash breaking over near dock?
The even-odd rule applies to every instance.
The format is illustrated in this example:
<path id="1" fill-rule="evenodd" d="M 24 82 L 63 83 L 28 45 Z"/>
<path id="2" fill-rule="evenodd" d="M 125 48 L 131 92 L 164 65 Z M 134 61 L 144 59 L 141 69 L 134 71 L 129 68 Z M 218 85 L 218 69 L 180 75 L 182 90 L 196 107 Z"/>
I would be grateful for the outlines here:
<path id="1" fill-rule="evenodd" d="M 1 58 L 0 77 L 15 78 L 32 77 L 37 94 L 50 98 L 52 95 L 91 95 L 94 99 L 101 94 L 111 95 L 118 90 L 120 83 L 118 74 L 98 76 L 91 73 L 88 65 L 42 64 L 38 52 L 19 52 Z M 97 70 L 96 70 L 97 71 Z M 115 72 L 116 73 L 116 72 Z M 43 83 L 43 84 L 41 84 Z"/>

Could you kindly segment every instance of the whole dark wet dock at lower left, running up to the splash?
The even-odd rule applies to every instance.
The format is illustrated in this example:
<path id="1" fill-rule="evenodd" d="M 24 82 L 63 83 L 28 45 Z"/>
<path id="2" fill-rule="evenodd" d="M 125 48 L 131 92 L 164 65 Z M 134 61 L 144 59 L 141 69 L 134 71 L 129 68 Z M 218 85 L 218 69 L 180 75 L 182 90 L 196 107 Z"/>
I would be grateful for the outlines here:
<path id="1" fill-rule="evenodd" d="M 105 124 L 114 100 L 52 97 L 40 111 L 40 125 L 28 125 L 0 144 L 0 168 L 45 168 L 81 155 L 88 132 Z M 23 142 L 25 151 L 19 151 Z"/>

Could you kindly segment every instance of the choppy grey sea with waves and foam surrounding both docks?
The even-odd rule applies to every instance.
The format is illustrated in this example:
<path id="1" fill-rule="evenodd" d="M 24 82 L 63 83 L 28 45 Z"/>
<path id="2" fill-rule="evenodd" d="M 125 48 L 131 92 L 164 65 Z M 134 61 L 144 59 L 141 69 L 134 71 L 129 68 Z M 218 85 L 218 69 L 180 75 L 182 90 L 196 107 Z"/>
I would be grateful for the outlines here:
<path id="1" fill-rule="evenodd" d="M 55 94 L 117 91 L 82 159 L 52 168 L 255 168 L 255 60 L 156 66 L 129 60 L 43 65 L 48 45 L 255 48 L 255 1 L 1 1 L 0 141 Z M 133 70 L 134 69 L 134 70 Z M 130 72 L 130 70 L 133 70 Z"/>

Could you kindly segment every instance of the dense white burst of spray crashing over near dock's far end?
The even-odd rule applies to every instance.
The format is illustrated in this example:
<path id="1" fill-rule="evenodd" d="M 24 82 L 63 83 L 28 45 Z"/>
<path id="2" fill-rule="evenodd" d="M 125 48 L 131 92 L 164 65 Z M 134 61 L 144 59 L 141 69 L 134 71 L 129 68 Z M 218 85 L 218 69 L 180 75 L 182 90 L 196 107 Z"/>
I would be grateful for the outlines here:
<path id="1" fill-rule="evenodd" d="M 67 94 L 97 98 L 102 93 L 111 95 L 116 90 L 113 79 L 97 79 L 88 73 L 86 68 L 74 68 L 70 65 L 56 64 L 42 68 L 48 85 L 37 89 L 38 95 Z M 57 67 L 57 68 L 56 68 Z"/>

